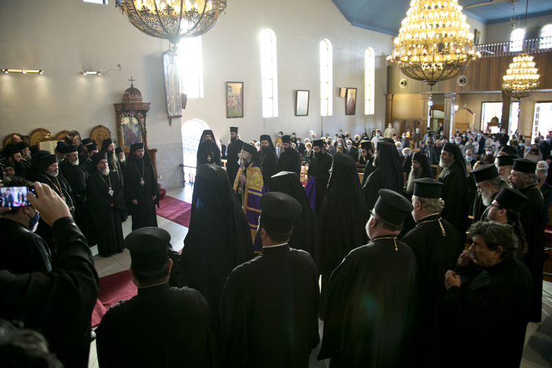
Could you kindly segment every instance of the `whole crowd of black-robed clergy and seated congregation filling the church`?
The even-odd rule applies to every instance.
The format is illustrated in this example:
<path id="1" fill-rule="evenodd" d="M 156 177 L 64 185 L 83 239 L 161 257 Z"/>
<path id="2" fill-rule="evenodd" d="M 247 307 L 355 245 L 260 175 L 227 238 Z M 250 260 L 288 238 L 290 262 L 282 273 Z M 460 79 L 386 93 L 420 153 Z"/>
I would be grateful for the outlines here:
<path id="1" fill-rule="evenodd" d="M 12 137 L 2 184 L 37 195 L 1 213 L 0 318 L 88 365 L 98 244 L 129 249 L 138 287 L 96 330 L 100 367 L 308 367 L 319 344 L 335 367 L 518 367 L 541 320 L 552 132 L 395 133 L 273 142 L 230 127 L 225 146 L 204 130 L 181 253 L 157 228 L 144 144 L 126 157 L 73 131 L 51 155 Z"/>

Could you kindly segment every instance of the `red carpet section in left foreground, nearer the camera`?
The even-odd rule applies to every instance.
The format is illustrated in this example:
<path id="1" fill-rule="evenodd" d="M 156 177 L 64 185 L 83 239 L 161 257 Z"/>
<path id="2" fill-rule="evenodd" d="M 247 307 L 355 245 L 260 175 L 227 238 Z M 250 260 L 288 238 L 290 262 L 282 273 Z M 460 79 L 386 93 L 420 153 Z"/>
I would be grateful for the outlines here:
<path id="1" fill-rule="evenodd" d="M 106 311 L 121 300 L 130 299 L 138 293 L 132 282 L 130 272 L 121 271 L 99 279 L 99 296 L 92 311 L 92 327 L 99 325 L 99 321 Z"/>

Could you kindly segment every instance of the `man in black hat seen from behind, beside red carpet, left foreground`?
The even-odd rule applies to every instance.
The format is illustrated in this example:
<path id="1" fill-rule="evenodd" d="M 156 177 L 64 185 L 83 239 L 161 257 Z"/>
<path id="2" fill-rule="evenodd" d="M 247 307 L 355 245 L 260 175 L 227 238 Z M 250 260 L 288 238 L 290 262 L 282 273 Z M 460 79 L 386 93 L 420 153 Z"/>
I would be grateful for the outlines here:
<path id="1" fill-rule="evenodd" d="M 170 234 L 156 227 L 132 231 L 130 274 L 138 295 L 111 307 L 97 334 L 101 367 L 215 367 L 209 307 L 199 291 L 168 284 Z"/>

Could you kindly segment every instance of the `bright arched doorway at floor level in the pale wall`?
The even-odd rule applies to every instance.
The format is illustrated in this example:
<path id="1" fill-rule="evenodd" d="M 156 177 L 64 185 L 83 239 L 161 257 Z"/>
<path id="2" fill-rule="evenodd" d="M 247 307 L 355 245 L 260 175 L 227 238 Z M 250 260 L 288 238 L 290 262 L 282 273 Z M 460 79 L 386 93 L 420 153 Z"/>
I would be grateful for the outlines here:
<path id="1" fill-rule="evenodd" d="M 197 164 L 197 146 L 201 139 L 201 133 L 209 126 L 200 119 L 190 119 L 181 127 L 182 134 L 182 155 L 184 167 L 182 168 L 182 184 L 194 184 L 195 166 Z"/>

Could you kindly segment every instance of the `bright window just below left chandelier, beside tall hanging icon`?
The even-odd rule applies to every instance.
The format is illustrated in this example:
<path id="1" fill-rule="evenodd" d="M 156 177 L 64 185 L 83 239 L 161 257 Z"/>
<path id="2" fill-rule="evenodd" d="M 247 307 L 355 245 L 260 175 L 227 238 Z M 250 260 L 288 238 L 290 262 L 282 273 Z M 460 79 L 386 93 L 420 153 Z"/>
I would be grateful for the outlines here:
<path id="1" fill-rule="evenodd" d="M 203 59 L 201 36 L 185 38 L 178 44 L 180 84 L 188 98 L 203 98 Z"/>

